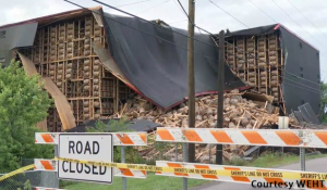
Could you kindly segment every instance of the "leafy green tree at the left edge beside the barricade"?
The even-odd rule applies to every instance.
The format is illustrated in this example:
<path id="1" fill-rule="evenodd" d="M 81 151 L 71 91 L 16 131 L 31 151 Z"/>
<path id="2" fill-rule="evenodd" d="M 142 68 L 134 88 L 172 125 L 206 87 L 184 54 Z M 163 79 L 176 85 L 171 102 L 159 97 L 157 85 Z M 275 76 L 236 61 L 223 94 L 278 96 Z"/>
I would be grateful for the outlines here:
<path id="1" fill-rule="evenodd" d="M 0 173 L 20 167 L 20 160 L 52 156 L 53 147 L 35 144 L 36 124 L 47 117 L 52 103 L 39 83 L 12 61 L 0 64 Z"/>

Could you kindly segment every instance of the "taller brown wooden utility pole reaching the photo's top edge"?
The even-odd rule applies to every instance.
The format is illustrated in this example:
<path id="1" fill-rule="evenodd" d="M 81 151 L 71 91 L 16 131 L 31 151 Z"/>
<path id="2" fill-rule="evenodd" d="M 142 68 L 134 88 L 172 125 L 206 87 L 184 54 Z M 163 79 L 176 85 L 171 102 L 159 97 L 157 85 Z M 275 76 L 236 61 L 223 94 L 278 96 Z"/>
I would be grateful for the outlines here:
<path id="1" fill-rule="evenodd" d="M 189 38 L 187 38 L 187 68 L 189 68 L 189 128 L 195 128 L 195 81 L 194 81 L 194 17 L 195 0 L 189 0 Z M 195 162 L 195 144 L 189 143 L 189 162 Z"/>

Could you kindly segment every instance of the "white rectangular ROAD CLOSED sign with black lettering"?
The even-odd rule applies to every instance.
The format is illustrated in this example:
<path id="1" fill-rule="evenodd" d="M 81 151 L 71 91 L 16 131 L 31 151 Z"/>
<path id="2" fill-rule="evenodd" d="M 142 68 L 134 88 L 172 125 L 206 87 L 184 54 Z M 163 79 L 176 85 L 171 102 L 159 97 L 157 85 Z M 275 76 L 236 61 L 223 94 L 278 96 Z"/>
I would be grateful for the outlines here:
<path id="1" fill-rule="evenodd" d="M 102 162 L 113 160 L 111 134 L 60 134 L 58 148 L 59 157 Z M 58 178 L 112 183 L 112 168 L 59 161 Z"/>

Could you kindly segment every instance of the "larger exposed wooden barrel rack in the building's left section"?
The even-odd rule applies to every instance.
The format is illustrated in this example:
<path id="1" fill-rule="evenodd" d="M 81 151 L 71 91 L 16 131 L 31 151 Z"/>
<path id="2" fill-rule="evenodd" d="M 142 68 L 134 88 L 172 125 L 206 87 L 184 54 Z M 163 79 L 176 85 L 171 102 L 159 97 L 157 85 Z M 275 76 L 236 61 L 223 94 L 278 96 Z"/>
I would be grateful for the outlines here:
<path id="1" fill-rule="evenodd" d="M 105 29 L 92 13 L 60 21 L 37 30 L 34 47 L 21 49 L 41 76 L 50 77 L 65 94 L 76 124 L 118 112 L 132 90 L 100 63 L 93 42 L 107 48 Z M 49 110 L 49 131 L 61 131 L 57 109 Z"/>

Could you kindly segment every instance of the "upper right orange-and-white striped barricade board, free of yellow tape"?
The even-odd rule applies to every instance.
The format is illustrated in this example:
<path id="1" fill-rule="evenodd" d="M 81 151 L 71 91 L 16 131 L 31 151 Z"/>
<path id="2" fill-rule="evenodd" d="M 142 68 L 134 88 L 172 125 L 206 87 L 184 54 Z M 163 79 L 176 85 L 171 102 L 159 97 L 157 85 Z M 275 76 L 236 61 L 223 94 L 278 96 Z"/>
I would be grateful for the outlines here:
<path id="1" fill-rule="evenodd" d="M 158 127 L 156 141 L 327 148 L 327 130 Z"/>

